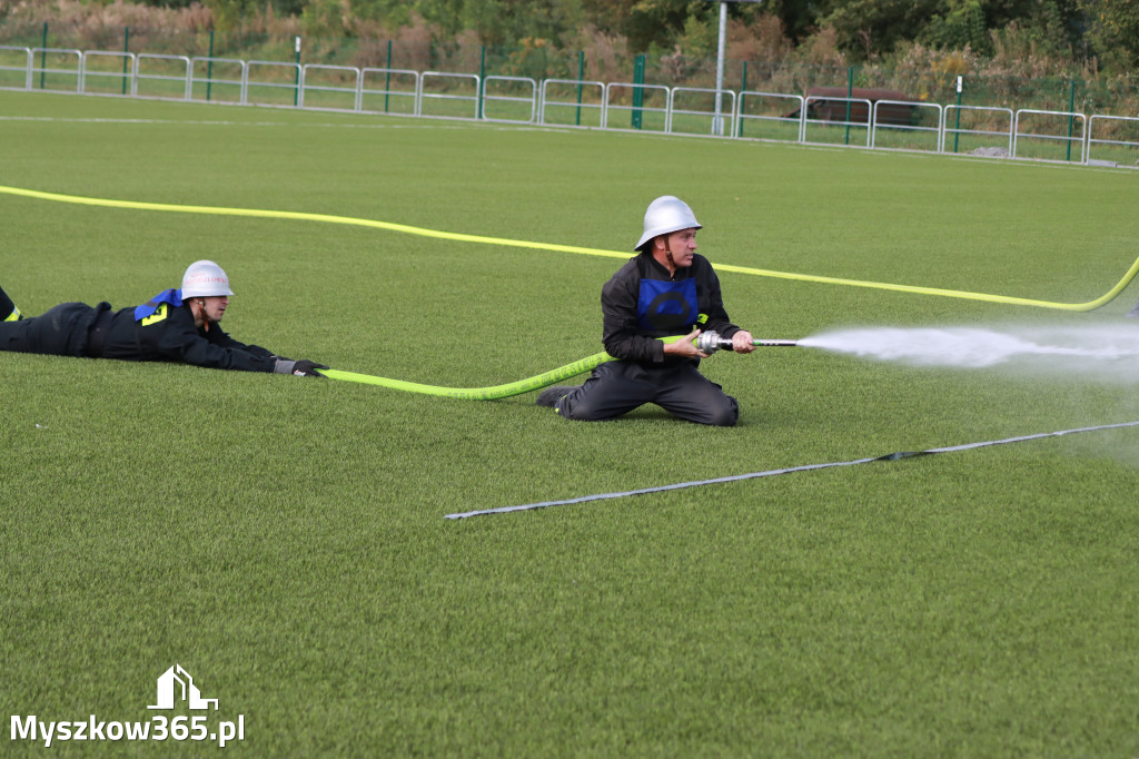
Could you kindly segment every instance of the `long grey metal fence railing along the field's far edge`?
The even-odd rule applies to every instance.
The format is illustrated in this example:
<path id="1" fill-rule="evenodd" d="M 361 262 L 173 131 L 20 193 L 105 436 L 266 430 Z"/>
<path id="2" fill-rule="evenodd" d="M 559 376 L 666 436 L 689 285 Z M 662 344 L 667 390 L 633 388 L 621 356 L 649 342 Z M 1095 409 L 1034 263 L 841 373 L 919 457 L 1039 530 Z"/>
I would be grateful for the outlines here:
<path id="1" fill-rule="evenodd" d="M 1071 108 L 16 46 L 0 89 L 1139 168 L 1139 117 Z"/>

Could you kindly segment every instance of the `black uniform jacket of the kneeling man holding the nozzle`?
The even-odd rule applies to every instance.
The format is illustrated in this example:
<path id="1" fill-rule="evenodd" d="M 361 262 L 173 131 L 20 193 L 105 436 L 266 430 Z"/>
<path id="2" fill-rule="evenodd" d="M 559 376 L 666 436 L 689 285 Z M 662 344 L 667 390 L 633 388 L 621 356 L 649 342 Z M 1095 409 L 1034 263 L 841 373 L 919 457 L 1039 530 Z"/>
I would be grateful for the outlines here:
<path id="1" fill-rule="evenodd" d="M 646 329 L 640 324 L 638 315 L 642 279 L 671 283 L 695 279 L 698 312 L 705 315 L 707 319 L 703 324 L 696 324 L 694 313 L 693 324 L 680 325 L 672 329 Z M 724 311 L 723 297 L 720 295 L 720 279 L 708 260 L 699 254 L 693 256 L 690 267 L 677 269 L 673 277 L 669 276 L 669 270 L 657 263 L 650 253 L 634 255 L 601 288 L 601 315 L 604 318 L 601 342 L 606 352 L 616 359 L 641 364 L 665 362 L 664 343 L 655 340 L 656 337 L 687 335 L 693 326 L 699 327 L 702 332 L 715 330 L 722 337 L 731 337 L 739 332 L 739 327 L 728 319 L 728 312 Z M 691 359 L 670 357 L 667 362 L 685 360 Z"/>

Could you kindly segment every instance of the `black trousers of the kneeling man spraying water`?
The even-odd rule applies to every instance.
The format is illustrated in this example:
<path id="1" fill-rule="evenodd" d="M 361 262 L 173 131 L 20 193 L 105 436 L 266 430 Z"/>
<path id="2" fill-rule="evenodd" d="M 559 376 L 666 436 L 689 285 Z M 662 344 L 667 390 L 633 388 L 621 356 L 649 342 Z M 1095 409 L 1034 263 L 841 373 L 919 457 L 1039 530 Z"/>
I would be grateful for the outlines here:
<path id="1" fill-rule="evenodd" d="M 585 384 L 555 406 L 567 419 L 599 422 L 626 414 L 645 403 L 656 403 L 674 416 L 698 424 L 730 427 L 739 418 L 739 405 L 690 361 L 645 367 L 634 361 L 606 361 Z"/>

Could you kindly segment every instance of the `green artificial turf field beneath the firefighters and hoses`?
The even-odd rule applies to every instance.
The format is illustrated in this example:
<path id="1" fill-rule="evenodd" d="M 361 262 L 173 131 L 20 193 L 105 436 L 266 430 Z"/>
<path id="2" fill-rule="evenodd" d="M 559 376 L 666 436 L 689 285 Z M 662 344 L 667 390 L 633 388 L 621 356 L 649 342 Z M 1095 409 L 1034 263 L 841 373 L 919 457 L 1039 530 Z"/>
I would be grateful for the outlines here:
<path id="1" fill-rule="evenodd" d="M 1136 178 L 1027 162 L 0 92 L 0 185 L 626 250 L 688 201 L 713 262 L 1084 302 Z M 609 258 L 0 195 L 26 315 L 134 305 L 216 260 L 237 338 L 501 384 L 601 350 Z M 1109 325 L 721 275 L 763 337 Z M 178 365 L 0 353 L 0 711 L 149 720 L 172 664 L 249 756 L 1133 757 L 1134 427 L 445 520 L 1139 419 L 1136 378 L 809 349 L 703 370 L 740 424 L 566 423 Z M 207 742 L 208 743 L 208 742 Z M 55 742 L 64 753 L 206 744 Z M 39 743 L 5 738 L 3 753 Z"/>

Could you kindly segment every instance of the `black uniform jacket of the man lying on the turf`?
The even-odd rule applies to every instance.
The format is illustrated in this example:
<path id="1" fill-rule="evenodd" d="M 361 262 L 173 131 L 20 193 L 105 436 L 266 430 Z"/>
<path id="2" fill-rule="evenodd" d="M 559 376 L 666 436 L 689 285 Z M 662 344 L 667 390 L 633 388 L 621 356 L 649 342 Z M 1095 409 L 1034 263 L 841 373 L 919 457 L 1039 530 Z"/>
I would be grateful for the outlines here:
<path id="1" fill-rule="evenodd" d="M 99 303 L 96 309 L 109 309 Z M 106 317 L 104 317 L 106 318 Z M 211 369 L 272 372 L 276 358 L 259 345 L 246 345 L 222 332 L 220 323 L 210 329 L 194 326 L 189 304 L 162 304 L 150 317 L 134 320 L 134 309 L 110 316 L 101 335 L 98 356 L 128 361 L 179 361 Z"/>

